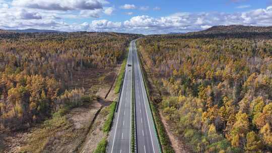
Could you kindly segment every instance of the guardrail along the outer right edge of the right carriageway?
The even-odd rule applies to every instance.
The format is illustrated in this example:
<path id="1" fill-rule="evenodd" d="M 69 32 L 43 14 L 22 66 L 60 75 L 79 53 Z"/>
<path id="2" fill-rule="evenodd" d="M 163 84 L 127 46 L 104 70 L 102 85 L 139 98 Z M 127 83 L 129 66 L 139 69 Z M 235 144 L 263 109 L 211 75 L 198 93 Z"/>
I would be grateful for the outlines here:
<path id="1" fill-rule="evenodd" d="M 136 49 L 137 49 L 137 47 L 136 47 Z M 160 137 L 159 137 L 159 135 L 158 135 L 156 123 L 155 123 L 155 121 L 154 121 L 154 115 L 153 115 L 153 112 L 152 112 L 152 109 L 151 109 L 151 106 L 150 106 L 149 94 L 148 94 L 148 92 L 147 92 L 147 87 L 146 87 L 147 85 L 146 85 L 146 81 L 145 81 L 145 79 L 144 79 L 144 73 L 143 73 L 142 66 L 141 66 L 141 60 L 140 60 L 141 58 L 139 57 L 138 52 L 137 52 L 137 56 L 138 56 L 138 59 L 139 59 L 140 69 L 141 69 L 141 73 L 142 73 L 142 77 L 143 77 L 143 81 L 144 81 L 144 85 L 145 85 L 145 91 L 146 91 L 146 94 L 147 94 L 147 97 L 148 97 L 148 103 L 149 103 L 148 106 L 149 106 L 149 109 L 150 109 L 150 111 L 151 111 L 151 116 L 152 116 L 152 121 L 153 121 L 154 129 L 155 129 L 155 134 L 156 134 L 156 137 L 157 137 L 157 141 L 158 141 L 158 143 L 159 143 L 160 152 L 162 152 L 161 141 L 160 141 Z"/>

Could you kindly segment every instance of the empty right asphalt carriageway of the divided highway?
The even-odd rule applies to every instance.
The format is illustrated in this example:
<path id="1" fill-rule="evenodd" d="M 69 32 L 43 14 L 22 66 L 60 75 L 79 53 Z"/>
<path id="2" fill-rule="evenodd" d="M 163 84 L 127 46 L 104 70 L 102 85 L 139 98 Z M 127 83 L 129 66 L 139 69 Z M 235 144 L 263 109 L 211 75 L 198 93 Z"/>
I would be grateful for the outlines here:
<path id="1" fill-rule="evenodd" d="M 137 151 L 140 153 L 160 152 L 158 138 L 148 102 L 140 61 L 137 56 L 135 40 L 132 41 L 133 66 L 134 66 L 134 90 L 135 113 L 137 126 Z"/>

